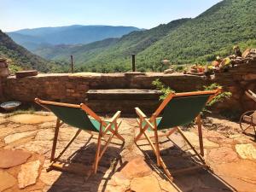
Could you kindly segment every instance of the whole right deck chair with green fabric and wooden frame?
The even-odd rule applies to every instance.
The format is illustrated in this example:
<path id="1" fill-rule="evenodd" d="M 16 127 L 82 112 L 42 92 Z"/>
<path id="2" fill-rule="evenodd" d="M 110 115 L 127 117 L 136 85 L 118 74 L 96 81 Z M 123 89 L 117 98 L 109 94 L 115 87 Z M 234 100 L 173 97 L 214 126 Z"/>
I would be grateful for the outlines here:
<path id="1" fill-rule="evenodd" d="M 152 147 L 154 154 L 156 156 L 157 165 L 162 166 L 164 171 L 166 172 L 167 177 L 170 180 L 173 180 L 172 174 L 177 172 L 186 172 L 190 170 L 194 170 L 200 167 L 207 166 L 206 161 L 203 158 L 204 149 L 203 149 L 203 141 L 202 141 L 202 132 L 201 132 L 201 111 L 206 106 L 207 102 L 210 102 L 212 98 L 221 90 L 209 90 L 209 91 L 195 91 L 195 92 L 185 92 L 185 93 L 171 93 L 166 99 L 160 104 L 160 107 L 156 109 L 153 115 L 150 118 L 139 109 L 135 108 L 136 113 L 138 115 L 137 123 L 139 125 L 139 133 L 137 137 L 135 137 L 135 142 L 142 139 L 141 137 L 144 135 L 145 139 L 148 140 L 148 143 Z M 161 114 L 161 115 L 160 115 Z M 199 143 L 201 153 L 198 153 L 193 145 L 189 143 L 189 139 L 184 136 L 183 132 L 180 130 L 179 126 L 187 125 L 196 119 L 196 123 L 198 125 L 198 133 L 199 133 Z M 157 131 L 171 129 L 169 132 L 163 135 L 158 135 Z M 154 131 L 154 143 L 150 140 L 151 137 L 148 137 L 146 131 Z M 195 155 L 201 162 L 201 165 L 183 168 L 177 170 L 176 172 L 169 172 L 165 162 L 160 157 L 160 147 L 159 147 L 159 137 L 169 137 L 173 132 L 178 131 L 180 135 L 183 137 L 186 143 L 189 144 L 189 147 L 195 152 Z"/>

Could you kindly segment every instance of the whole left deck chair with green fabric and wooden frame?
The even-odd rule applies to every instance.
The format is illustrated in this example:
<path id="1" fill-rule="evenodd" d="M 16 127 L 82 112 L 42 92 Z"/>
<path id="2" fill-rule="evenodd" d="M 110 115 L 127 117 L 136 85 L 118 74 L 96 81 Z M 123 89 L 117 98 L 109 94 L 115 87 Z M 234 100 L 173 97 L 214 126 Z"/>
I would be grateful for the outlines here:
<path id="1" fill-rule="evenodd" d="M 97 172 L 98 163 L 102 158 L 103 153 L 106 151 L 108 144 L 111 142 L 113 137 L 117 137 L 121 141 L 125 142 L 125 139 L 121 137 L 118 133 L 119 125 L 121 120 L 118 121 L 120 116 L 120 111 L 113 115 L 113 118 L 110 120 L 103 120 L 96 113 L 94 113 L 90 108 L 88 108 L 84 103 L 80 105 L 73 105 L 63 102 L 49 102 L 43 101 L 38 98 L 35 99 L 35 102 L 41 105 L 42 107 L 48 109 L 49 111 L 55 113 L 57 117 L 56 126 L 55 126 L 55 137 L 53 140 L 49 170 L 58 169 L 61 171 L 70 171 L 67 170 L 67 167 L 59 164 L 57 161 L 61 158 L 61 155 L 67 150 L 67 148 L 73 143 L 74 139 L 79 136 L 79 133 L 87 131 L 92 136 L 92 132 L 97 132 L 97 146 L 96 146 L 96 156 L 95 161 L 92 166 L 93 173 Z M 74 134 L 72 139 L 67 143 L 67 146 L 61 151 L 57 158 L 55 158 L 55 149 L 57 144 L 58 133 L 61 125 L 67 124 L 71 125 L 79 130 Z M 106 136 L 107 133 L 109 137 L 105 146 L 101 149 L 102 137 Z M 78 169 L 79 170 L 79 169 Z M 71 171 L 75 172 L 75 171 Z M 80 173 L 80 172 L 79 172 Z"/>

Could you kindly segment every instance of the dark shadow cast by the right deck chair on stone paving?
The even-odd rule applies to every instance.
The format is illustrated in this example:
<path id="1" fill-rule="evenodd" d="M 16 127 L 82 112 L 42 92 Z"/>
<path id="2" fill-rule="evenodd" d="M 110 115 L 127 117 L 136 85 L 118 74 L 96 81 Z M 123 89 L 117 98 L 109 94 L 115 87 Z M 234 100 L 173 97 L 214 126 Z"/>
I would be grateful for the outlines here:
<path id="1" fill-rule="evenodd" d="M 171 137 L 161 137 L 159 143 L 165 146 L 160 154 L 170 172 L 197 165 L 195 154 L 191 150 L 184 150 L 184 146 L 178 146 Z M 143 152 L 148 166 L 161 178 L 169 180 L 164 170 L 157 166 L 155 154 L 149 144 L 138 143 L 137 147 Z M 207 169 L 174 174 L 170 183 L 179 191 L 236 191 L 229 183 Z"/>

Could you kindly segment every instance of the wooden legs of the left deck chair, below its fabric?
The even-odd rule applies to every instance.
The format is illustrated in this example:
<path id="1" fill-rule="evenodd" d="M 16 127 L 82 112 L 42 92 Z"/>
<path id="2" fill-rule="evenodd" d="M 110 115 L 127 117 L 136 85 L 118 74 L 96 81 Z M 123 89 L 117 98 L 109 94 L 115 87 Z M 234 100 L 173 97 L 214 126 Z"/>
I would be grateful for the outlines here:
<path id="1" fill-rule="evenodd" d="M 70 141 L 67 143 L 65 148 L 63 148 L 61 153 L 55 158 L 55 149 L 56 149 L 56 145 L 57 145 L 58 134 L 59 134 L 60 127 L 63 124 L 64 123 L 61 122 L 60 119 L 57 119 L 56 127 L 55 127 L 55 137 L 54 137 L 54 140 L 53 140 L 53 145 L 52 145 L 52 150 L 51 150 L 51 155 L 50 155 L 51 165 L 49 166 L 48 171 L 50 171 L 53 168 L 55 168 L 55 169 L 58 169 L 58 170 L 61 170 L 61 171 L 66 171 L 66 172 L 81 173 L 79 169 L 77 169 L 77 170 L 79 170 L 79 172 L 76 172 L 75 170 L 67 169 L 66 166 L 61 166 L 60 164 L 56 163 L 61 158 L 61 155 L 64 154 L 64 152 L 67 150 L 67 148 L 73 143 L 75 138 L 78 137 L 79 133 L 82 131 L 81 129 L 79 129 L 73 135 L 73 137 L 70 139 Z M 119 123 L 118 123 L 117 119 L 114 119 L 113 121 L 110 121 L 108 126 L 105 127 L 105 130 L 103 131 L 103 125 L 101 124 L 100 131 L 99 131 L 99 134 L 98 134 L 98 137 L 97 137 L 95 162 L 94 162 L 94 164 L 92 166 L 92 172 L 93 173 L 97 172 L 98 163 L 102 159 L 102 155 L 104 154 L 104 152 L 108 148 L 108 144 L 111 142 L 112 138 L 113 137 L 117 137 L 121 141 L 123 141 L 123 142 L 125 141 L 124 138 L 120 137 L 120 135 L 118 134 L 118 129 L 119 129 L 120 125 L 121 125 L 121 121 L 119 121 Z M 113 130 L 112 127 L 114 127 L 114 130 Z M 102 147 L 102 137 L 107 135 L 108 131 L 111 132 L 111 134 L 108 136 L 108 140 L 106 141 L 105 145 Z M 90 142 L 90 139 L 93 137 L 93 134 L 90 131 L 86 131 L 86 132 L 90 133 L 90 138 L 89 138 L 89 140 L 86 143 L 86 144 L 88 144 Z"/>

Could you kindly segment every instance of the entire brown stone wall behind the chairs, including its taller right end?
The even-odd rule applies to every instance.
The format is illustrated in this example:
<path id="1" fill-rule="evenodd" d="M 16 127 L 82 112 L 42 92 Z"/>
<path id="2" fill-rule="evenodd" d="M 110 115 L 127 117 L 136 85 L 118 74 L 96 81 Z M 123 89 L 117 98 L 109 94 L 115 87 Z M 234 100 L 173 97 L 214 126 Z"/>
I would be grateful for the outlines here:
<path id="1" fill-rule="evenodd" d="M 154 89 L 151 84 L 154 79 L 160 79 L 177 92 L 202 90 L 204 84 L 217 82 L 233 94 L 230 101 L 218 104 L 217 108 L 243 111 L 256 108 L 255 103 L 244 94 L 247 89 L 256 92 L 256 61 L 230 68 L 227 73 L 217 73 L 215 79 L 182 73 L 61 73 L 38 74 L 23 79 L 9 76 L 2 81 L 2 86 L 3 96 L 8 101 L 32 102 L 35 97 L 39 97 L 50 101 L 80 103 L 85 101 L 87 90 Z"/>

